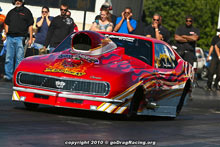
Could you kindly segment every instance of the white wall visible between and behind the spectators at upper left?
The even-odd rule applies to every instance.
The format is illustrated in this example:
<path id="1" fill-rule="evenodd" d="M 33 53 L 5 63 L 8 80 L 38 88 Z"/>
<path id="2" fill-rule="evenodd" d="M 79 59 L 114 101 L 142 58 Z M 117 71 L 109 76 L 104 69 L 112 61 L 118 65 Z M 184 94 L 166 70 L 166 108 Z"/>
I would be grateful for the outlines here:
<path id="1" fill-rule="evenodd" d="M 96 15 L 100 13 L 100 7 L 105 2 L 105 0 L 96 0 L 95 4 L 95 12 L 87 12 L 86 13 L 86 27 L 85 29 L 88 30 L 94 21 Z M 14 6 L 11 3 L 2 3 L 0 2 L 0 6 L 2 8 L 2 14 L 7 14 L 11 9 L 14 8 Z M 33 14 L 34 18 L 41 16 L 41 7 L 37 6 L 30 6 L 25 5 L 27 8 L 29 8 Z M 79 30 L 82 30 L 83 25 L 83 17 L 84 17 L 84 11 L 76 11 L 76 10 L 70 10 L 71 11 L 71 17 L 74 19 L 75 23 L 78 25 Z M 59 8 L 50 8 L 50 16 L 57 16 L 60 14 Z"/>

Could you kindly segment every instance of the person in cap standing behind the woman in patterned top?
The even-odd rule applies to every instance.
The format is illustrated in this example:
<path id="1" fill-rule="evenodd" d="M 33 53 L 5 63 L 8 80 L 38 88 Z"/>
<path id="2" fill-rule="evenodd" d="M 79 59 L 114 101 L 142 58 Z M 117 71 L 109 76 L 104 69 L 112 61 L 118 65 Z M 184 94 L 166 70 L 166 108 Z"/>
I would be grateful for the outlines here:
<path id="1" fill-rule="evenodd" d="M 102 10 L 111 11 L 111 10 L 112 10 L 112 6 L 110 5 L 110 3 L 105 2 L 104 4 L 102 4 L 102 6 L 101 6 L 101 8 L 100 8 L 100 12 L 101 12 Z M 109 12 L 109 16 L 110 16 L 111 22 L 113 23 L 113 28 L 114 28 L 115 25 L 116 25 L 117 16 L 114 15 L 114 14 L 111 14 L 110 12 Z M 97 16 L 95 17 L 95 21 L 96 21 L 96 20 L 100 20 L 100 19 L 101 19 L 101 15 L 97 15 Z"/>

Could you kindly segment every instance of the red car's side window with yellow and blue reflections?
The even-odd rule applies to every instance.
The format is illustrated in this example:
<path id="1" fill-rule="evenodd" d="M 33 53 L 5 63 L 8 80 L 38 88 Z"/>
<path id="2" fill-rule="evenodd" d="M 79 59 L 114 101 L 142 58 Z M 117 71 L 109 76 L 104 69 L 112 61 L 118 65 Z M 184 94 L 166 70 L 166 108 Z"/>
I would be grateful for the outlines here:
<path id="1" fill-rule="evenodd" d="M 175 54 L 164 44 L 155 44 L 155 67 L 173 69 L 177 65 Z"/>

